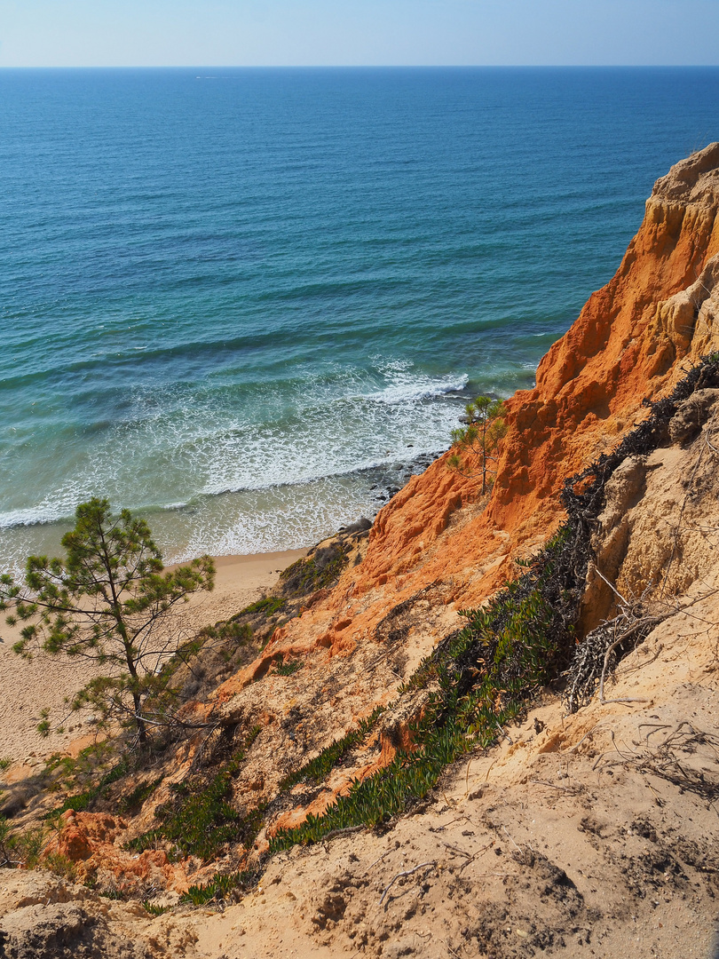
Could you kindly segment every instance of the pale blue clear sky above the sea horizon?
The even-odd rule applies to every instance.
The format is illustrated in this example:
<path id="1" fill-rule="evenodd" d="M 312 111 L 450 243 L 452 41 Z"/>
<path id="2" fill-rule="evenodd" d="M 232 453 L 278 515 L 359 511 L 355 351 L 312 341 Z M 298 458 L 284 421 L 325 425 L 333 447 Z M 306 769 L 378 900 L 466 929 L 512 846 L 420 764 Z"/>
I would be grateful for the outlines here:
<path id="1" fill-rule="evenodd" d="M 0 0 L 0 66 L 719 64 L 719 0 Z"/>

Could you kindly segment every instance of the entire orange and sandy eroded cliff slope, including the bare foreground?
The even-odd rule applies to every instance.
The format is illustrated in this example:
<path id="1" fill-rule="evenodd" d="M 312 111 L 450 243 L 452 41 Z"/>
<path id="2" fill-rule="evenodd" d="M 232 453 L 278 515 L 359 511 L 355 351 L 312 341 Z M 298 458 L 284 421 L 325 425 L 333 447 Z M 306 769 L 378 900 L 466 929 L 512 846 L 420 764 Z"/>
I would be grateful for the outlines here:
<path id="1" fill-rule="evenodd" d="M 274 604 L 292 618 L 244 668 L 188 703 L 188 716 L 217 724 L 212 734 L 136 772 L 104 807 L 64 813 L 46 854 L 70 860 L 77 878 L 174 908 L 162 934 L 188 956 L 429 956 L 443 940 L 454 955 L 498 959 L 629 948 L 642 959 L 705 956 L 719 892 L 719 363 L 700 358 L 719 348 L 718 210 L 713 144 L 657 181 L 615 277 L 552 346 L 534 389 L 508 401 L 491 495 L 480 498 L 441 457 L 368 534 L 345 530 L 315 550 Z M 650 410 L 647 399 L 661 402 Z M 566 518 L 565 482 L 577 476 L 572 528 L 586 542 L 584 565 L 574 557 L 569 570 L 581 593 L 571 628 L 586 657 L 575 657 L 567 683 L 582 708 L 568 714 L 552 690 L 524 699 L 486 748 L 475 743 L 454 765 L 461 754 L 448 754 L 440 784 L 412 787 L 395 807 L 411 815 L 373 818 L 371 807 L 360 819 L 379 824 L 373 830 L 333 828 L 322 843 L 281 851 L 282 830 L 312 827 L 319 820 L 309 816 L 356 795 L 357 783 L 391 791 L 387 780 L 411 765 L 421 718 L 446 722 L 450 699 L 436 710 L 444 661 L 432 661 L 424 686 L 417 667 L 451 649 L 459 609 L 496 594 L 517 578 L 515 559 L 545 545 Z M 305 580 L 312 589 L 300 595 L 293 584 Z M 542 596 L 529 599 L 542 611 Z M 266 617 L 244 615 L 257 628 Z M 599 668 L 582 687 L 592 656 Z M 460 660 L 445 674 L 450 686 L 481 672 L 481 657 Z M 471 691 L 462 687 L 452 709 Z M 496 699 L 503 709 L 503 687 Z M 218 789 L 235 811 L 218 807 L 208 832 L 231 822 L 237 841 L 186 854 L 178 824 L 189 835 Z M 148 800 L 121 817 L 121 799 L 133 808 L 130 790 Z M 273 840 L 280 851 L 267 859 Z M 205 899 L 196 890 L 197 901 L 241 901 L 198 918 L 177 904 L 193 885 L 210 890 Z M 21 950 L 34 915 L 24 910 L 44 887 L 26 895 L 21 886 L 5 897 L 0 954 L 3 934 L 18 955 L 44 954 L 36 944 Z M 103 939 L 109 911 L 68 889 L 54 901 L 91 917 L 100 931 L 88 949 L 114 954 L 110 932 Z M 113 908 L 127 927 L 128 909 Z M 142 936 L 138 955 L 172 952 L 145 925 Z"/>

